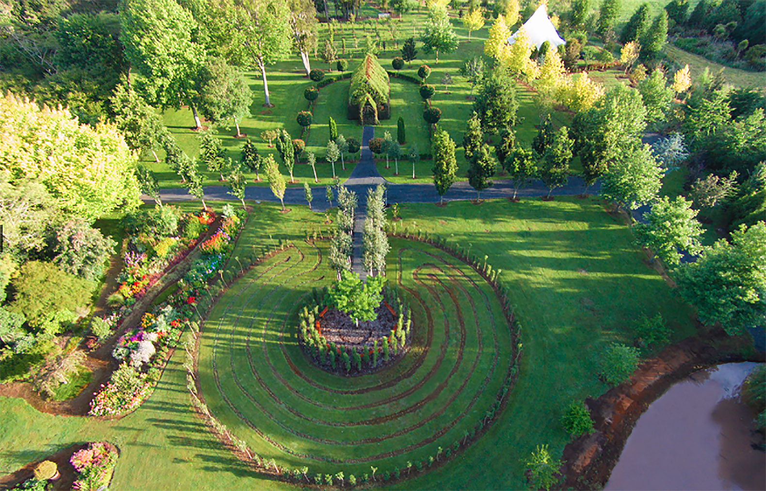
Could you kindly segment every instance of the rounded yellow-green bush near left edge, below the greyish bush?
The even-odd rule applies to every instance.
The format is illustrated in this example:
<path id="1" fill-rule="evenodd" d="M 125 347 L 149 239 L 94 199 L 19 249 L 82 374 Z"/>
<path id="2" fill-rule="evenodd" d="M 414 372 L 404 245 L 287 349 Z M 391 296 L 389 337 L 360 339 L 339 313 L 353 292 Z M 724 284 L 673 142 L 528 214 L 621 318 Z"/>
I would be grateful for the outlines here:
<path id="1" fill-rule="evenodd" d="M 90 303 L 93 283 L 80 280 L 60 270 L 54 264 L 29 261 L 19 268 L 19 275 L 11 280 L 15 291 L 8 309 L 28 319 L 29 325 L 56 333 L 63 319 L 57 314 L 74 312 Z"/>

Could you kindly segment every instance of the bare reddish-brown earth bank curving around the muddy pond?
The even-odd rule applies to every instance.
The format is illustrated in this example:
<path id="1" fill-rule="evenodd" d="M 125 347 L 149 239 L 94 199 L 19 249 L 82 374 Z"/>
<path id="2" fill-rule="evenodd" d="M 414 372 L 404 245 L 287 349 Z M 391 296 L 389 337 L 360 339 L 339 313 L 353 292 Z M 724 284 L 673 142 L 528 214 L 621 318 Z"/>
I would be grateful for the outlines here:
<path id="1" fill-rule="evenodd" d="M 586 399 L 595 431 L 566 445 L 561 489 L 603 488 L 638 418 L 677 381 L 720 363 L 766 362 L 766 353 L 743 350 L 737 341 L 722 329 L 683 339 L 639 365 L 630 381 Z"/>

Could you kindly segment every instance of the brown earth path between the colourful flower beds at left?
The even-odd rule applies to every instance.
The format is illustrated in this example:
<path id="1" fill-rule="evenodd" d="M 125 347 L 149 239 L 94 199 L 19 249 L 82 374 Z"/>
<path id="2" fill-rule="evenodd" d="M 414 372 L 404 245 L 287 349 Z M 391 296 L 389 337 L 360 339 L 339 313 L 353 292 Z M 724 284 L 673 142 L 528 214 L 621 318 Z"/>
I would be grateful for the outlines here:
<path id="1" fill-rule="evenodd" d="M 112 373 L 119 366 L 119 363 L 117 363 L 116 360 L 114 360 L 111 356 L 114 343 L 117 339 L 119 339 L 119 336 L 124 334 L 126 329 L 128 329 L 132 323 L 135 323 L 141 319 L 141 316 L 146 313 L 146 310 L 152 306 L 152 302 L 155 300 L 155 298 L 157 298 L 160 294 L 162 294 L 162 292 L 164 292 L 174 283 L 169 281 L 171 277 L 175 277 L 176 275 L 179 275 L 178 277 L 183 277 L 186 270 L 188 270 L 188 266 L 191 264 L 191 259 L 195 252 L 198 250 L 200 245 L 205 242 L 205 240 L 207 240 L 215 230 L 218 229 L 218 224 L 220 224 L 220 222 L 221 217 L 219 215 L 215 218 L 215 221 L 213 221 L 208 226 L 208 230 L 205 231 L 205 234 L 198 238 L 195 247 L 186 250 L 180 260 L 177 260 L 174 264 L 169 264 L 169 266 L 162 271 L 162 275 L 158 277 L 155 282 L 149 286 L 149 288 L 146 290 L 146 293 L 136 303 L 134 303 L 133 306 L 131 306 L 129 313 L 123 319 L 120 319 L 117 329 L 108 339 L 106 339 L 103 345 L 91 352 L 86 353 L 87 358 L 83 364 L 87 365 L 88 368 L 93 368 L 93 378 L 91 378 L 88 385 L 86 385 L 85 388 L 80 391 L 80 394 L 77 394 L 77 396 L 67 401 L 47 401 L 41 398 L 40 394 L 33 390 L 31 382 L 18 381 L 8 384 L 0 384 L 0 396 L 22 398 L 37 411 L 46 414 L 53 414 L 54 416 L 96 417 L 88 416 L 87 414 L 88 410 L 90 409 L 90 401 L 93 399 L 93 392 L 96 391 L 96 389 L 101 384 L 109 381 Z M 167 365 L 170 356 L 172 356 L 172 352 L 173 350 L 171 350 L 165 358 L 165 362 L 162 366 L 162 372 L 164 372 L 165 366 Z M 147 398 L 149 397 L 151 397 L 151 392 Z M 139 404 L 138 408 L 140 407 L 141 406 Z M 119 419 L 120 417 L 125 417 L 131 412 L 133 411 L 120 414 L 116 417 L 98 418 Z"/>

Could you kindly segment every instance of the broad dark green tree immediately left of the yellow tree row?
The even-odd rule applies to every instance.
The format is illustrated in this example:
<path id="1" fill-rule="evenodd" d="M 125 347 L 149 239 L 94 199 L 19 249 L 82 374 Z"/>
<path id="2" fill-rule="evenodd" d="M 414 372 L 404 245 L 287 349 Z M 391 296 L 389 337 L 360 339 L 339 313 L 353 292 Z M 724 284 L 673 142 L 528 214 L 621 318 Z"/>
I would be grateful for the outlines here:
<path id="1" fill-rule="evenodd" d="M 486 79 L 473 103 L 473 110 L 479 114 L 483 128 L 488 133 L 498 133 L 501 129 L 509 129 L 516 124 L 516 111 L 519 103 L 516 100 L 516 85 L 511 77 L 493 70 Z"/>

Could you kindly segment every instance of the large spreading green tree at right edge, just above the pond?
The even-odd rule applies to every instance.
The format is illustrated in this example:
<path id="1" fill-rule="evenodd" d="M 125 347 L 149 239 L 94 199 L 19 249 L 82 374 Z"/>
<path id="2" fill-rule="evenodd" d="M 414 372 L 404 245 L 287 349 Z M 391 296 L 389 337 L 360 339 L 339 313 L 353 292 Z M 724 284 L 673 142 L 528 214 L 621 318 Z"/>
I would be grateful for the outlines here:
<path id="1" fill-rule="evenodd" d="M 683 299 L 702 322 L 721 322 L 732 336 L 763 323 L 766 315 L 766 223 L 742 225 L 731 241 L 721 239 L 702 249 L 696 262 L 676 271 Z"/>

